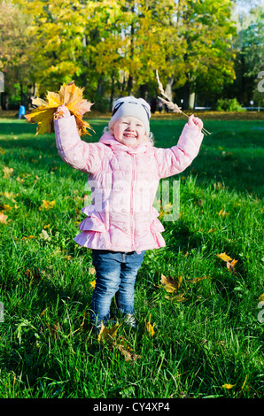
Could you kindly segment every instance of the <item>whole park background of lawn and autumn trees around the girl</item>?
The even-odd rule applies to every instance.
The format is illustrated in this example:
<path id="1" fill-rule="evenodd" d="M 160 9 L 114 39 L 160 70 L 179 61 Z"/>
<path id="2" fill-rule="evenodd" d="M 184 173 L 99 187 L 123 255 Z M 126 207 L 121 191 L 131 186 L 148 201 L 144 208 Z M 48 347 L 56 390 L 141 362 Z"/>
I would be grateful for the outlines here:
<path id="1" fill-rule="evenodd" d="M 263 397 L 263 4 L 0 1 L 0 397 Z M 97 142 L 113 100 L 159 95 L 204 121 L 166 249 L 146 253 L 138 328 L 97 339 L 94 270 L 74 244 L 83 173 L 19 105 L 75 81 Z M 152 109 L 155 145 L 186 118 Z M 168 211 L 169 212 L 169 211 Z M 168 284 L 170 283 L 170 284 Z M 114 304 L 113 304 L 114 314 Z M 4 319 L 3 319 L 4 318 Z"/>

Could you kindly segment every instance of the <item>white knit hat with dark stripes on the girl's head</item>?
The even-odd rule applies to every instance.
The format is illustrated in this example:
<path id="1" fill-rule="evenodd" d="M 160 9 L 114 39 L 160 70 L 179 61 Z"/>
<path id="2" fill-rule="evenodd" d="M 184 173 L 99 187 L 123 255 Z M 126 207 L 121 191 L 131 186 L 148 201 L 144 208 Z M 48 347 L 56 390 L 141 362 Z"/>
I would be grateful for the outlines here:
<path id="1" fill-rule="evenodd" d="M 109 121 L 109 128 L 121 117 L 136 117 L 140 119 L 146 129 L 146 134 L 150 133 L 151 107 L 143 98 L 135 96 L 124 96 L 116 100 L 113 104 L 112 118 Z"/>

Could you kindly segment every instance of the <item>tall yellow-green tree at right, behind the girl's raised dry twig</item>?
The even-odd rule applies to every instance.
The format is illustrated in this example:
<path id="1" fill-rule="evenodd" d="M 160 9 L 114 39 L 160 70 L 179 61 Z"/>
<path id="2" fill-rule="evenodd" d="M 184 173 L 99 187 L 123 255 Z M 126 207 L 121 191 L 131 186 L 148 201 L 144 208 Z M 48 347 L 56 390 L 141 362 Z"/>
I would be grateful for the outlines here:
<path id="1" fill-rule="evenodd" d="M 231 21 L 230 0 L 178 2 L 177 25 L 184 39 L 182 65 L 175 67 L 175 87 L 182 87 L 185 108 L 192 108 L 194 93 L 215 95 L 235 78 L 235 53 L 231 42 L 236 27 Z"/>

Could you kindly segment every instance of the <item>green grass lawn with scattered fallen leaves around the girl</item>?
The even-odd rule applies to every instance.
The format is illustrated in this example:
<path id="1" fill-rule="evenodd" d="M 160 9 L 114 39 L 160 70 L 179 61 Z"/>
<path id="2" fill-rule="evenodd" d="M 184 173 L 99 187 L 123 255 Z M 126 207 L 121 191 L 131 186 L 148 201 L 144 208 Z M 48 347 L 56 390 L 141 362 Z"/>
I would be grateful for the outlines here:
<path id="1" fill-rule="evenodd" d="M 97 135 L 88 140 L 97 141 L 106 121 L 90 123 Z M 175 144 L 183 124 L 153 119 L 156 145 Z M 82 326 L 94 275 L 90 251 L 73 238 L 86 175 L 58 157 L 54 135 L 35 137 L 25 121 L 0 120 L 0 211 L 8 217 L 0 223 L 0 397 L 263 397 L 264 121 L 205 127 L 213 135 L 172 178 L 181 181 L 181 218 L 163 219 L 167 247 L 147 251 L 138 274 L 138 329 L 120 326 L 107 344 L 89 320 Z M 9 178 L 4 166 L 13 169 Z M 56 204 L 43 211 L 43 200 Z M 236 273 L 217 257 L 222 252 L 237 259 Z M 182 274 L 184 302 L 167 299 L 161 274 Z M 124 340 L 136 359 L 125 359 Z"/>

